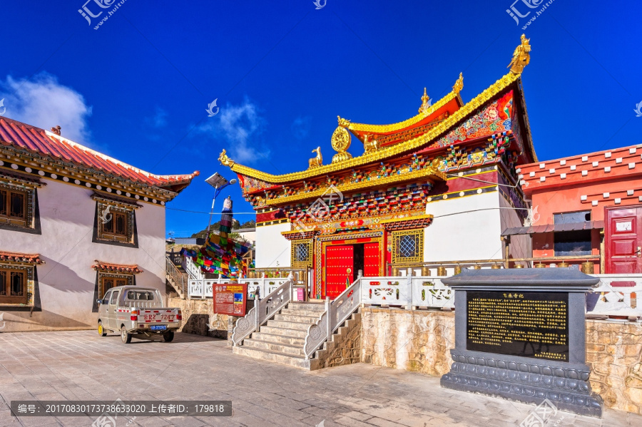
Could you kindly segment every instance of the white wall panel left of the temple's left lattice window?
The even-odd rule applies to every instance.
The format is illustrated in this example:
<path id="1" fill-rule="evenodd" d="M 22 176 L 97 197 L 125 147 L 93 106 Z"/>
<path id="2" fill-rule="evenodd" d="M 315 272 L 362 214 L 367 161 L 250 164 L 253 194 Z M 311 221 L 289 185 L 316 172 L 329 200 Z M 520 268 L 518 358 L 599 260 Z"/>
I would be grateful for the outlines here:
<path id="1" fill-rule="evenodd" d="M 256 227 L 256 267 L 290 267 L 292 245 L 281 232 L 290 231 L 290 222 Z"/>

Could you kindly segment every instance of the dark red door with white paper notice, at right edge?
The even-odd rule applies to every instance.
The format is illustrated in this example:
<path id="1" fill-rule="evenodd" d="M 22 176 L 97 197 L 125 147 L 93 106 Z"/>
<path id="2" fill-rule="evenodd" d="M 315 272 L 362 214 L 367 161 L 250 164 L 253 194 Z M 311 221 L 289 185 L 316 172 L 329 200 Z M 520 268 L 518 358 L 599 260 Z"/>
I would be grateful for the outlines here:
<path id="1" fill-rule="evenodd" d="M 642 207 L 606 210 L 606 274 L 642 273 Z"/>

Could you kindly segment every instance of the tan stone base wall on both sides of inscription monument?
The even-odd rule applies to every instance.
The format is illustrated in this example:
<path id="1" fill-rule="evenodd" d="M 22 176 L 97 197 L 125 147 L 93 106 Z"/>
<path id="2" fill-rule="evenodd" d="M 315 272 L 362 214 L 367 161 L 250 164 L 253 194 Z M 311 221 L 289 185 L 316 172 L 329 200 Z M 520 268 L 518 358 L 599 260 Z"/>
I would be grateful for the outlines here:
<path id="1" fill-rule="evenodd" d="M 450 371 L 454 312 L 365 307 L 361 361 L 442 376 Z M 642 413 L 642 324 L 586 320 L 591 388 L 606 408 Z"/>

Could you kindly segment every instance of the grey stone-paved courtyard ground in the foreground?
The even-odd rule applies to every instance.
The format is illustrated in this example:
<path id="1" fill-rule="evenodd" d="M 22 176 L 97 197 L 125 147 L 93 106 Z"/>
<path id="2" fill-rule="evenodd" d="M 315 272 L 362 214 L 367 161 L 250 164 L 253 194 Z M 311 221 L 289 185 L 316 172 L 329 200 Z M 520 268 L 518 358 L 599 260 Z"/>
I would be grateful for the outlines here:
<path id="1" fill-rule="evenodd" d="M 519 426 L 534 406 L 439 387 L 439 378 L 355 364 L 307 372 L 232 354 L 227 341 L 177 334 L 122 344 L 94 331 L 0 334 L 0 426 L 91 426 L 93 419 L 11 416 L 15 399 L 230 400 L 232 417 L 138 417 L 127 426 Z M 325 421 L 324 421 L 325 420 Z M 546 426 L 642 426 L 559 411 Z M 109 426 L 112 427 L 112 426 Z"/>

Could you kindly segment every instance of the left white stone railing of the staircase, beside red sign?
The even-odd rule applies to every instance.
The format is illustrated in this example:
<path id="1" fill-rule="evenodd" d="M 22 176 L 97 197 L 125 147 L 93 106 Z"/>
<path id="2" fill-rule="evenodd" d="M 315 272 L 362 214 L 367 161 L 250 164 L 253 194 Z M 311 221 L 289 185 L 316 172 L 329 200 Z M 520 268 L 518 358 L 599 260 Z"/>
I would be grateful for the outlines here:
<path id="1" fill-rule="evenodd" d="M 272 316 L 277 314 L 287 303 L 292 300 L 292 286 L 294 279 L 292 276 L 288 277 L 287 281 L 281 284 L 265 298 L 259 299 L 255 297 L 254 307 L 250 309 L 245 317 L 238 319 L 232 330 L 232 344 L 238 345 L 245 338 L 250 336 L 254 331 L 258 332 L 259 327 L 269 320 Z"/>

